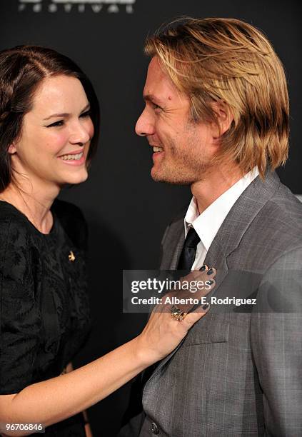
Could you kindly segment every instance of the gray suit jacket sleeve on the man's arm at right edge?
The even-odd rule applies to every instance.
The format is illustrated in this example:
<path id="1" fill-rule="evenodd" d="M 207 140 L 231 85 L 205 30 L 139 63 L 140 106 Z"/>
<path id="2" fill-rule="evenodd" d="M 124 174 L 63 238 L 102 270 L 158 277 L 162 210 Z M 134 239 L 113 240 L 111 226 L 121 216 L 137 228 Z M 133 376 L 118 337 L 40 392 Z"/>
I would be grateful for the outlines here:
<path id="1" fill-rule="evenodd" d="M 302 248 L 273 263 L 258 288 L 251 345 L 268 436 L 302 432 Z"/>

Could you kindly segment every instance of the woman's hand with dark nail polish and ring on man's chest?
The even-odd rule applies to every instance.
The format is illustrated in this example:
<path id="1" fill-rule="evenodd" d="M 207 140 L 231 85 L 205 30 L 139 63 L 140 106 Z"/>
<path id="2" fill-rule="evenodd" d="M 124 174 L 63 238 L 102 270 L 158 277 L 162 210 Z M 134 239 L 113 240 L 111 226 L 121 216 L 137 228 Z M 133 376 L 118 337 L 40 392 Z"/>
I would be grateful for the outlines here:
<path id="1" fill-rule="evenodd" d="M 204 284 L 203 288 L 195 292 L 183 288 L 171 291 L 163 296 L 161 304 L 153 308 L 144 331 L 136 338 L 139 345 L 138 353 L 141 354 L 143 360 L 146 359 L 149 365 L 150 361 L 155 363 L 171 353 L 186 336 L 193 324 L 206 315 L 210 306 L 208 303 L 202 303 L 202 298 L 214 288 L 215 276 L 216 269 L 209 269 L 207 266 L 204 267 L 204 271 L 191 271 L 187 276 L 181 278 L 181 283 L 187 284 L 193 281 L 195 284 L 196 281 L 200 281 L 200 284 Z M 173 306 L 171 298 L 173 297 L 184 299 L 186 302 L 181 305 L 176 304 L 176 307 L 184 313 L 182 321 L 178 321 L 171 314 Z M 198 308 L 190 303 L 192 299 L 201 301 Z"/>

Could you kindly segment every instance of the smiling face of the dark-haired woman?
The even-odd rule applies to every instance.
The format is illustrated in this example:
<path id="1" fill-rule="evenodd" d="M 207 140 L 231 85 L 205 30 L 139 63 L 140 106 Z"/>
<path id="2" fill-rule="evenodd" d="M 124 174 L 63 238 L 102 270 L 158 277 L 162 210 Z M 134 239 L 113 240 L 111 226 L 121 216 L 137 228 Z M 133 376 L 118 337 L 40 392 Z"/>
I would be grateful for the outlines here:
<path id="1" fill-rule="evenodd" d="M 88 177 L 86 159 L 93 135 L 89 101 L 79 79 L 49 77 L 34 94 L 21 136 L 9 148 L 13 167 L 38 189 L 79 184 Z"/>

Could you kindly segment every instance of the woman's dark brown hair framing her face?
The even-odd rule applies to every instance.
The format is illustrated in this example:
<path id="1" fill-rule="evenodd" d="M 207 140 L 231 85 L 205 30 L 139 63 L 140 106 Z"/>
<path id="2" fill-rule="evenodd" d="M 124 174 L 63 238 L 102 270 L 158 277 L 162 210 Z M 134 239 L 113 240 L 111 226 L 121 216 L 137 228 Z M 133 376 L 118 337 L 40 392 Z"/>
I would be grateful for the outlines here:
<path id="1" fill-rule="evenodd" d="M 88 164 L 99 137 L 99 102 L 88 77 L 74 61 L 40 46 L 16 46 L 0 52 L 0 193 L 14 179 L 9 146 L 21 134 L 24 115 L 31 111 L 34 93 L 46 77 L 64 74 L 79 79 L 91 106 L 94 137 Z"/>

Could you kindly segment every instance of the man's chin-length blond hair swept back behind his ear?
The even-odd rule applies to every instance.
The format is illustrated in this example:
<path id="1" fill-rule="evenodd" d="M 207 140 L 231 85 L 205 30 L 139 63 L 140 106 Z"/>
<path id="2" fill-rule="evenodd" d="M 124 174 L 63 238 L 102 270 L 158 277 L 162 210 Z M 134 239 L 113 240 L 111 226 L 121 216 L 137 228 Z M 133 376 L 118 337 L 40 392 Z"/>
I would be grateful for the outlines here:
<path id="1" fill-rule="evenodd" d="M 238 19 L 181 19 L 156 31 L 145 52 L 191 101 L 191 121 L 218 122 L 213 102 L 231 111 L 218 159 L 263 177 L 288 156 L 288 91 L 283 65 L 266 36 Z"/>

